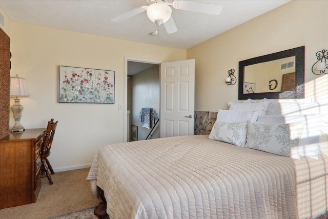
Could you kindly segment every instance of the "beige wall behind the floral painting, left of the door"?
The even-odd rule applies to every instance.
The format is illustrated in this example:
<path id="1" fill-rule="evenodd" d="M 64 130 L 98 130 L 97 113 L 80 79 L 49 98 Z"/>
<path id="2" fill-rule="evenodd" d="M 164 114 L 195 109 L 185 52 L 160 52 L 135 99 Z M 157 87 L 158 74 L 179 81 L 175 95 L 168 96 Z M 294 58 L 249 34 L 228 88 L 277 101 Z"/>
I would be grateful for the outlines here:
<path id="1" fill-rule="evenodd" d="M 123 142 L 124 56 L 163 62 L 186 59 L 187 50 L 11 22 L 11 75 L 24 77 L 30 97 L 21 99 L 25 128 L 58 120 L 49 158 L 55 169 L 89 165 L 99 147 Z M 113 70 L 115 104 L 57 103 L 58 65 Z M 10 106 L 13 105 L 11 99 Z M 14 124 L 12 113 L 11 126 Z"/>

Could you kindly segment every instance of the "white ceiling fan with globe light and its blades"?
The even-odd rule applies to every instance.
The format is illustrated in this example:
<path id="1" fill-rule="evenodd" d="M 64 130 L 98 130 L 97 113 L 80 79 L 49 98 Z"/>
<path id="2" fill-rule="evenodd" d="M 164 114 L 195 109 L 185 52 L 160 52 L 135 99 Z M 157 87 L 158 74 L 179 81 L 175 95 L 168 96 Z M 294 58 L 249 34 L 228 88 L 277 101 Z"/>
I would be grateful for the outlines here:
<path id="1" fill-rule="evenodd" d="M 174 9 L 194 11 L 213 15 L 220 14 L 223 8 L 222 5 L 213 5 L 208 3 L 184 0 L 147 0 L 147 2 L 150 4 L 149 6 L 140 6 L 136 9 L 128 11 L 127 13 L 114 17 L 112 21 L 121 22 L 146 11 L 148 18 L 152 22 L 154 22 L 156 26 L 163 24 L 166 31 L 170 34 L 178 31 L 171 16 L 172 9 L 170 6 L 172 6 Z"/>

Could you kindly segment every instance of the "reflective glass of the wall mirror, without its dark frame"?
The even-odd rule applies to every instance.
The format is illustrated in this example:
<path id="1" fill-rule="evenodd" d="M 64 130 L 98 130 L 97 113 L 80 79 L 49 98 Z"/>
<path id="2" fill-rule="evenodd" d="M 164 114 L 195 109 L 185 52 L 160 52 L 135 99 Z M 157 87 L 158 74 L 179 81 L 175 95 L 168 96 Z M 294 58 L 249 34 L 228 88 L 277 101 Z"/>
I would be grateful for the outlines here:
<path id="1" fill-rule="evenodd" d="M 286 87 L 287 81 L 283 80 L 286 74 L 294 76 L 294 81 L 289 81 L 287 87 L 295 90 L 295 56 L 245 66 L 243 93 L 280 92 Z"/>

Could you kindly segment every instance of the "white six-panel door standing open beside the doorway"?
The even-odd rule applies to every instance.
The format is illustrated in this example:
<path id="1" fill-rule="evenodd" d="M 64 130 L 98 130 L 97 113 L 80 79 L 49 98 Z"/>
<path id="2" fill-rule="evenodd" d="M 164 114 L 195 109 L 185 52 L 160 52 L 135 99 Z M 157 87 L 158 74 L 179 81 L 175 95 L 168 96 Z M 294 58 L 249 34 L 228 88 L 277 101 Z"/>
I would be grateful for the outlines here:
<path id="1" fill-rule="evenodd" d="M 195 59 L 160 64 L 160 137 L 194 134 Z"/>

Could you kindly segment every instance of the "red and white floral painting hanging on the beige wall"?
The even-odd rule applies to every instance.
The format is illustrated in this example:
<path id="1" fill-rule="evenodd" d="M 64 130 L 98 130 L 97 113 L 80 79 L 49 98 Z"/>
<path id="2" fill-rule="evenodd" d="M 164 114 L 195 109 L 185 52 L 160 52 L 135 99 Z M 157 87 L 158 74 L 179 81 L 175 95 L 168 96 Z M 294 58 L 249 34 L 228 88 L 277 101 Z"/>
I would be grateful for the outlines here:
<path id="1" fill-rule="evenodd" d="M 114 104 L 115 71 L 59 66 L 59 103 Z"/>

